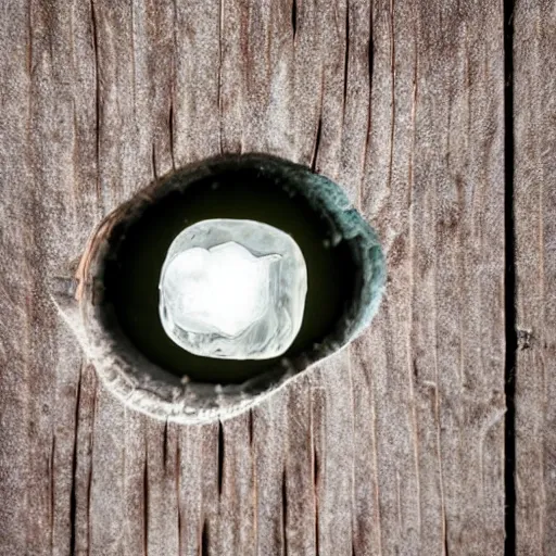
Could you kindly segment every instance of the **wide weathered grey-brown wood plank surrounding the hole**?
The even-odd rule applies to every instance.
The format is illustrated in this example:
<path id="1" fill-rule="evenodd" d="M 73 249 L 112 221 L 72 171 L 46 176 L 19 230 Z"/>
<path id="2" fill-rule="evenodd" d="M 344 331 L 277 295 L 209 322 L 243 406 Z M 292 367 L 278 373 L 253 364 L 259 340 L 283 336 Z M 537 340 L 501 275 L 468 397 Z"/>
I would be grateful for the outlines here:
<path id="1" fill-rule="evenodd" d="M 490 0 L 2 3 L 2 556 L 503 553 L 503 23 Z M 386 299 L 252 412 L 153 421 L 49 292 L 153 176 L 249 151 L 345 187 Z"/>

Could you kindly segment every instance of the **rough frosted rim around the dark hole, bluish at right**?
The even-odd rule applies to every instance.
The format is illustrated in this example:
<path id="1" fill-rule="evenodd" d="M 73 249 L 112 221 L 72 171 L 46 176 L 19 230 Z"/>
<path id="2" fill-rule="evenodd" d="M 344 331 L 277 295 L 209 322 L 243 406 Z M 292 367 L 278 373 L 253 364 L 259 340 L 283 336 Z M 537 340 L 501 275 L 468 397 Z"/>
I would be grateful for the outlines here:
<path id="1" fill-rule="evenodd" d="M 281 175 L 315 211 L 330 220 L 331 229 L 349 241 L 361 269 L 354 300 L 337 330 L 324 339 L 318 349 L 290 359 L 290 366 L 277 366 L 242 384 L 184 381 L 148 361 L 121 330 L 113 309 L 102 304 L 100 277 L 104 261 L 111 240 L 137 222 L 150 204 L 222 172 L 226 165 L 244 164 L 260 164 L 261 169 Z M 268 154 L 250 153 L 219 155 L 187 165 L 136 193 L 93 231 L 75 280 L 75 293 L 71 292 L 71 298 L 65 292 L 53 299 L 108 389 L 127 405 L 152 417 L 194 424 L 224 420 L 242 413 L 348 346 L 370 324 L 378 309 L 386 283 L 386 263 L 375 230 L 351 205 L 340 186 L 306 166 Z"/>

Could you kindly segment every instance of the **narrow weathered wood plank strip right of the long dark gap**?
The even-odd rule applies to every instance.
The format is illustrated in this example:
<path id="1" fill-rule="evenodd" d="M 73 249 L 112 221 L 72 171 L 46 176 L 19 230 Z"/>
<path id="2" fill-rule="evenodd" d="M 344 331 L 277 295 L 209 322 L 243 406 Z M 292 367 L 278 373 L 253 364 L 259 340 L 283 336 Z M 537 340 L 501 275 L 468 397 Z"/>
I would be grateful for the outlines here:
<path id="1" fill-rule="evenodd" d="M 556 5 L 515 10 L 517 552 L 556 549 Z"/>

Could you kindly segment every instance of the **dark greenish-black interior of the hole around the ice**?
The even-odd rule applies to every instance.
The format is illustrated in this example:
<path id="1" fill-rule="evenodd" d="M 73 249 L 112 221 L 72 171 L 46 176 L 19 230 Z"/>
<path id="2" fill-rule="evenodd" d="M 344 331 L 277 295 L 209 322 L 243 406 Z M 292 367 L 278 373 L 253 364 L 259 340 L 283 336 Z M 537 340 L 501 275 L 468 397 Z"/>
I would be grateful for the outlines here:
<path id="1" fill-rule="evenodd" d="M 331 247 L 330 225 L 288 177 L 261 165 L 224 165 L 220 172 L 169 189 L 111 239 L 104 268 L 104 301 L 135 346 L 166 371 L 211 383 L 241 383 L 321 342 L 353 302 L 357 268 L 346 241 Z M 175 178 L 174 178 L 175 181 Z M 173 188 L 176 187 L 174 182 Z M 307 265 L 308 289 L 301 330 L 286 354 L 266 361 L 200 357 L 175 344 L 159 318 L 159 279 L 174 238 L 197 222 L 244 218 L 270 224 L 298 242 Z"/>

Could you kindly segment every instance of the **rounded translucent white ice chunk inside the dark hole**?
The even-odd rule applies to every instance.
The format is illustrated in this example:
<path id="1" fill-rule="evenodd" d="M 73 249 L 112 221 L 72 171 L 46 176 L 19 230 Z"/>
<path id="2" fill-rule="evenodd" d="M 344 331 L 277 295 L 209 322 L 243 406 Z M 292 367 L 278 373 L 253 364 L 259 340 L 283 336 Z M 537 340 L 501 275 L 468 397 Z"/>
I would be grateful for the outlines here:
<path id="1" fill-rule="evenodd" d="M 283 231 L 212 219 L 174 240 L 160 290 L 161 320 L 178 345 L 206 357 L 264 359 L 286 352 L 300 330 L 307 271 Z"/>

